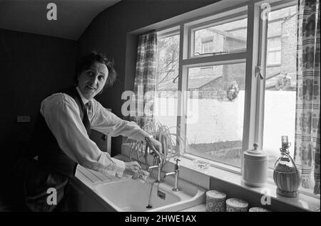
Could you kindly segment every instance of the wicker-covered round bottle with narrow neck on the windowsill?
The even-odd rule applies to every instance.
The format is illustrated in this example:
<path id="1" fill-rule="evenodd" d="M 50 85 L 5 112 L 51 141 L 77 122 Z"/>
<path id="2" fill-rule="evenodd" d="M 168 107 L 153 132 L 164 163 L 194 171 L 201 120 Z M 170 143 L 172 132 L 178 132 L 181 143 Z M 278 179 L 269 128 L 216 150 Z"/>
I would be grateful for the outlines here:
<path id="1" fill-rule="evenodd" d="M 287 136 L 282 136 L 282 148 L 280 148 L 281 156 L 275 163 L 273 171 L 273 179 L 277 185 L 277 194 L 285 197 L 295 198 L 299 194 L 301 177 L 297 170 L 293 159 L 290 156 L 290 142 Z"/>

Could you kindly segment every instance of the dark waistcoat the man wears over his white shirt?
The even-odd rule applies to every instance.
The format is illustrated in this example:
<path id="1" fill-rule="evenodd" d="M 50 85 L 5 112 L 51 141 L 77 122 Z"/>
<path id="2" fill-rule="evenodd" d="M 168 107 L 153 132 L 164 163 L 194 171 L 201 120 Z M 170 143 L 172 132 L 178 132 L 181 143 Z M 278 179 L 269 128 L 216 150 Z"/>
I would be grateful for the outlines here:
<path id="1" fill-rule="evenodd" d="M 91 132 L 90 123 L 88 121 L 86 108 L 83 105 L 76 87 L 68 87 L 67 89 L 59 92 L 63 92 L 66 95 L 71 96 L 76 101 L 79 107 L 81 120 L 83 125 L 86 127 L 86 131 L 89 136 Z M 49 169 L 49 171 L 62 173 L 68 177 L 74 176 L 76 173 L 77 163 L 72 161 L 71 158 L 61 150 L 54 134 L 51 133 L 40 112 L 36 119 L 34 134 L 31 138 L 30 144 L 28 155 L 31 157 L 38 156 L 40 166 Z"/>

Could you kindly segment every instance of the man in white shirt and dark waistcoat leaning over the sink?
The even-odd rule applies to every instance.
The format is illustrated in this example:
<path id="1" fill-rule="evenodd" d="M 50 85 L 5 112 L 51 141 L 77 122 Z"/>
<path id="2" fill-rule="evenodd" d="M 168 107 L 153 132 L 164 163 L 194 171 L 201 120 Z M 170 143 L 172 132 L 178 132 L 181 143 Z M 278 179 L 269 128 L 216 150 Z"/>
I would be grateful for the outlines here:
<path id="1" fill-rule="evenodd" d="M 69 178 L 74 176 L 77 164 L 116 177 L 140 171 L 136 161 L 123 162 L 98 149 L 89 139 L 91 129 L 138 141 L 147 137 L 148 145 L 161 151 L 161 143 L 135 122 L 118 118 L 93 99 L 116 80 L 110 60 L 97 53 L 85 55 L 76 65 L 75 78 L 76 87 L 54 93 L 41 102 L 24 181 L 25 203 L 31 211 L 63 210 Z M 47 203 L 49 188 L 56 189 L 58 205 Z"/>

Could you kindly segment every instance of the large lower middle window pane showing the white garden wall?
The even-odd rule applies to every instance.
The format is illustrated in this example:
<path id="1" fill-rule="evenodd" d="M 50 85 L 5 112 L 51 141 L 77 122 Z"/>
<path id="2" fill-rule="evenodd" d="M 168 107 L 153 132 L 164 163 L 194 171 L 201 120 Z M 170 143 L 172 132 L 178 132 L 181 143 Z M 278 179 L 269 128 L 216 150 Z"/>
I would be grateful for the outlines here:
<path id="1" fill-rule="evenodd" d="M 188 70 L 188 153 L 240 167 L 244 87 L 245 63 Z"/>

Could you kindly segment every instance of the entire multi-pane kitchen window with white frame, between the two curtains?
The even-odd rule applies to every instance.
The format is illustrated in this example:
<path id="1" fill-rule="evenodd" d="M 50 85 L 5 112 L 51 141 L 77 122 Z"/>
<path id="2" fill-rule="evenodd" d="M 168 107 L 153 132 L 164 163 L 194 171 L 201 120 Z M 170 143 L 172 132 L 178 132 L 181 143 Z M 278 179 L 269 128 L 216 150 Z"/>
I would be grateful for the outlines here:
<path id="1" fill-rule="evenodd" d="M 252 4 L 255 10 L 248 11 Z M 161 120 L 169 127 L 178 125 L 176 132 L 186 134 L 185 157 L 207 158 L 220 168 L 240 172 L 243 151 L 258 142 L 269 154 L 269 167 L 274 168 L 282 135 L 289 136 L 293 156 L 295 5 L 295 1 L 271 3 L 264 20 L 260 4 L 251 1 L 230 11 L 182 21 L 169 33 L 160 31 L 158 60 L 167 66 L 158 65 L 158 91 L 188 92 L 169 97 L 175 99 L 177 117 Z M 258 65 L 265 79 L 260 80 Z M 165 97 L 168 94 L 158 94 L 160 99 Z"/>

